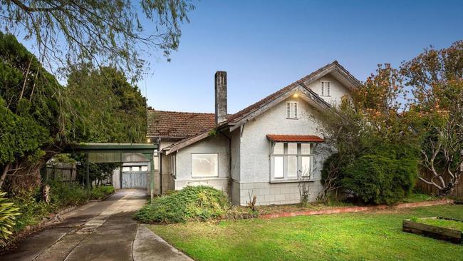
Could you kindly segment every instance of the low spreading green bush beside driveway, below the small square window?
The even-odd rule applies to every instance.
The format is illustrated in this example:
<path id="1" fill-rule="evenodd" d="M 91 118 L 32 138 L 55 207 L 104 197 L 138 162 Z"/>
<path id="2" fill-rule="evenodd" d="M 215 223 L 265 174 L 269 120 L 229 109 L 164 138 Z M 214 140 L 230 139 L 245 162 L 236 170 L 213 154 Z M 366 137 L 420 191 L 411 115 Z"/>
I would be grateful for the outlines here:
<path id="1" fill-rule="evenodd" d="M 135 215 L 142 222 L 184 222 L 222 218 L 230 205 L 227 196 L 209 186 L 187 186 L 148 203 Z"/>

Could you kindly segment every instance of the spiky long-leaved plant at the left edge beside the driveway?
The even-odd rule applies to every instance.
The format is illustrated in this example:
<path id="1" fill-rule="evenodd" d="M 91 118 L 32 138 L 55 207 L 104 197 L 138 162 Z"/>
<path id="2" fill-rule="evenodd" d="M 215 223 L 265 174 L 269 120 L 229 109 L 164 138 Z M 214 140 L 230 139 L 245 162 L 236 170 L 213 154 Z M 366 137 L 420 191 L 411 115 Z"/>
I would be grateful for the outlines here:
<path id="1" fill-rule="evenodd" d="M 5 198 L 6 193 L 0 192 L 0 246 L 6 245 L 6 240 L 13 234 L 16 216 L 19 208 Z"/>

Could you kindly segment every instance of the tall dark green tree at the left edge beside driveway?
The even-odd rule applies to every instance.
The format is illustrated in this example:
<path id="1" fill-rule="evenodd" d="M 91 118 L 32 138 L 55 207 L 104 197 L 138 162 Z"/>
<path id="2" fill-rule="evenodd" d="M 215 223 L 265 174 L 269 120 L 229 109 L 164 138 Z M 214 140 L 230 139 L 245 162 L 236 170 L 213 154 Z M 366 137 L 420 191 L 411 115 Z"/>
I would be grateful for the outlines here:
<path id="1" fill-rule="evenodd" d="M 59 140 L 62 86 L 11 34 L 0 33 L 0 58 L 0 186 L 10 175 L 10 185 L 32 188 Z"/>

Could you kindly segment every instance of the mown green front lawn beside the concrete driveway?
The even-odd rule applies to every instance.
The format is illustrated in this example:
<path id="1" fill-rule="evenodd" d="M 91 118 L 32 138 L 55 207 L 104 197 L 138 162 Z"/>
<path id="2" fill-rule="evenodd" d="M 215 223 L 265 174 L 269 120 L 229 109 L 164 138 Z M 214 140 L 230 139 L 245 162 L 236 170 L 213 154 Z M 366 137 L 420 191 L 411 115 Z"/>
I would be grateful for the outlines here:
<path id="1" fill-rule="evenodd" d="M 463 205 L 392 212 L 152 225 L 194 260 L 462 260 L 463 245 L 402 232 L 402 220 L 463 218 Z"/>

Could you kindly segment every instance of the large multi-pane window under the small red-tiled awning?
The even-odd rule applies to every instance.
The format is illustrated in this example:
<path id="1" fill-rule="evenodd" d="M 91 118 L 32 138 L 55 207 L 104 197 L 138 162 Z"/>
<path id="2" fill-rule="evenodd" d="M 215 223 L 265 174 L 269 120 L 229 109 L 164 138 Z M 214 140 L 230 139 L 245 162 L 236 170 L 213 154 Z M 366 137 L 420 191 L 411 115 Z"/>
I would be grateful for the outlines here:
<path id="1" fill-rule="evenodd" d="M 270 155 L 271 180 L 285 181 L 310 178 L 311 143 L 274 143 Z"/>

